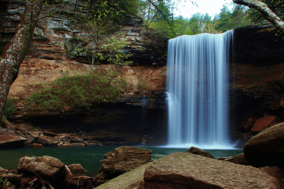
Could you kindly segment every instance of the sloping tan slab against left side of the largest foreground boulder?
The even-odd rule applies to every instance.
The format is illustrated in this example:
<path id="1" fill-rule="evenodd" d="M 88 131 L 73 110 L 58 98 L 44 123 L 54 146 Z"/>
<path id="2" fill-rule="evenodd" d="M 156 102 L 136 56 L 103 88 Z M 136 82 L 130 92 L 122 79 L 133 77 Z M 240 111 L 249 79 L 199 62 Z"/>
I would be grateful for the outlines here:
<path id="1" fill-rule="evenodd" d="M 153 162 L 141 165 L 132 171 L 111 179 L 96 189 L 144 189 L 144 172 L 151 164 Z"/>

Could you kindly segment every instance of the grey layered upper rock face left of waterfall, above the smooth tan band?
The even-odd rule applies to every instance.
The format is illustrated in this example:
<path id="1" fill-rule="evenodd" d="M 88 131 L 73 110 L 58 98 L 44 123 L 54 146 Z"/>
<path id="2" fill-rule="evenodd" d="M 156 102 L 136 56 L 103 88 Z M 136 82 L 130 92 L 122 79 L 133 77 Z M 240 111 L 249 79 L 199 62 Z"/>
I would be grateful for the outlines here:
<path id="1" fill-rule="evenodd" d="M 80 6 L 80 2 L 78 5 Z M 37 21 L 34 30 L 35 36 L 31 42 L 28 56 L 48 60 L 81 60 L 90 64 L 90 55 L 84 55 L 76 48 L 93 47 L 94 41 L 88 31 L 84 28 L 77 28 L 72 19 L 67 19 L 66 16 L 45 17 L 50 13 L 49 9 L 62 9 L 61 4 L 55 3 L 50 6 L 48 8 L 43 7 L 41 11 L 39 17 L 43 18 Z M 74 5 L 70 3 L 67 6 L 72 7 Z M 70 7 L 65 7 L 65 9 Z M 2 24 L 0 31 L 2 40 L 0 45 L 4 47 L 14 35 L 25 5 L 3 1 L 1 8 L 0 20 L 2 20 Z M 127 45 L 123 50 L 131 54 L 128 61 L 134 61 L 135 64 L 165 64 L 164 52 L 167 50 L 167 39 L 152 30 L 146 31 L 141 18 L 128 14 L 119 22 L 115 21 L 113 25 L 121 27 L 117 27 L 116 31 L 112 29 L 110 34 L 121 32 L 125 35 Z M 100 53 L 105 55 L 104 51 L 100 51 Z"/>

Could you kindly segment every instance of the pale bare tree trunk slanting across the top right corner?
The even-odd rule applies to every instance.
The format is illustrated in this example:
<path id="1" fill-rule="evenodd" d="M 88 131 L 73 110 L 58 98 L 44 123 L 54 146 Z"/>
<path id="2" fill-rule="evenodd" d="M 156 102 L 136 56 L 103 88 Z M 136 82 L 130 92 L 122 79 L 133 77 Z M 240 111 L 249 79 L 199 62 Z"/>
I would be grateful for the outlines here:
<path id="1" fill-rule="evenodd" d="M 284 21 L 282 21 L 268 6 L 257 0 L 233 0 L 234 3 L 252 7 L 263 14 L 277 29 L 284 33 Z"/>

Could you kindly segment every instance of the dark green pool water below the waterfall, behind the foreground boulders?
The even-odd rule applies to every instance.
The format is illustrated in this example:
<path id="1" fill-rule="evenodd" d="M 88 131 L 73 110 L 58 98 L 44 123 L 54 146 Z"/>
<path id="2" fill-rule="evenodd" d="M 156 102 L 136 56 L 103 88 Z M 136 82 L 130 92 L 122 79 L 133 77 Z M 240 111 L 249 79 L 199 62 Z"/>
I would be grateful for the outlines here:
<path id="1" fill-rule="evenodd" d="M 52 156 L 66 165 L 81 164 L 85 168 L 86 176 L 94 177 L 98 174 L 101 167 L 100 161 L 107 152 L 119 146 L 94 146 L 85 148 L 39 148 L 39 149 L 6 149 L 0 151 L 0 167 L 8 170 L 16 170 L 18 160 L 26 155 L 33 156 Z M 180 148 L 164 148 L 143 146 L 140 148 L 152 150 L 151 158 L 156 160 L 175 152 L 186 152 L 188 149 Z M 211 153 L 216 159 L 218 157 L 235 156 L 243 153 L 243 150 L 206 150 Z"/>

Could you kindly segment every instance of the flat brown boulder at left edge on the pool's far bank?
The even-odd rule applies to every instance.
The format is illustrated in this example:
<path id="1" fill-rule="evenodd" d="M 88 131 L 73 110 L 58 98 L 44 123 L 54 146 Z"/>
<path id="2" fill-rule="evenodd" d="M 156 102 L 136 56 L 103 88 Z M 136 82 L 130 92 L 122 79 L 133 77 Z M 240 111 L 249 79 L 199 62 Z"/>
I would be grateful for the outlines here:
<path id="1" fill-rule="evenodd" d="M 22 146 L 27 139 L 19 136 L 0 135 L 0 148 Z"/>

